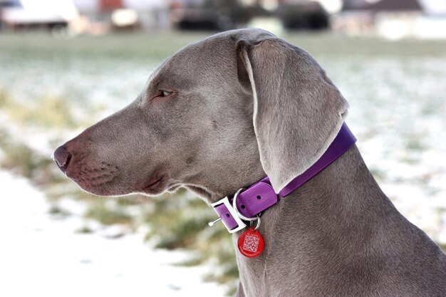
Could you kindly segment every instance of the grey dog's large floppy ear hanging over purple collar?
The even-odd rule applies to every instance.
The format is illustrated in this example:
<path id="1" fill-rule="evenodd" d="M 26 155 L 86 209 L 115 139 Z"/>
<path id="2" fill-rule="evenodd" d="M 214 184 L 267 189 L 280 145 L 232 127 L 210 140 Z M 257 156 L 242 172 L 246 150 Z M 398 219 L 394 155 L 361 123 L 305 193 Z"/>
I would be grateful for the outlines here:
<path id="1" fill-rule="evenodd" d="M 239 80 L 254 98 L 261 165 L 279 193 L 326 151 L 348 103 L 306 51 L 279 38 L 239 41 L 237 56 Z"/>

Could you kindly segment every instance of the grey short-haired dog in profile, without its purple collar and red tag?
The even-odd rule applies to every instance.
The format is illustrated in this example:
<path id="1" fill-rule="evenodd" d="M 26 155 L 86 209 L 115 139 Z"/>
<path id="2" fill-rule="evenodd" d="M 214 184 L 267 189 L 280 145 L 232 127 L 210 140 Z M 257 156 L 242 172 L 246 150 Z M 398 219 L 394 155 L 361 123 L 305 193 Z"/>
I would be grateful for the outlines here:
<path id="1" fill-rule="evenodd" d="M 306 51 L 227 31 L 168 58 L 133 103 L 54 157 L 103 196 L 186 187 L 211 204 L 265 176 L 277 193 L 327 150 L 347 108 Z M 445 254 L 395 209 L 356 145 L 266 209 L 259 232 L 260 256 L 237 252 L 237 296 L 446 296 Z"/>

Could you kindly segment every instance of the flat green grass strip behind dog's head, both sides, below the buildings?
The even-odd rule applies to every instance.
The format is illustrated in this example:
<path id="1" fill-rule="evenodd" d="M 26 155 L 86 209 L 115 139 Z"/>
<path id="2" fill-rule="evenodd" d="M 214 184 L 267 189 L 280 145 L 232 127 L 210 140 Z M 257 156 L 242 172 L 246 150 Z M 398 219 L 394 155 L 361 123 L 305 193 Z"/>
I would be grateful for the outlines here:
<path id="1" fill-rule="evenodd" d="M 112 33 L 99 37 L 54 38 L 44 33 L 3 33 L 0 35 L 0 51 L 19 58 L 107 56 L 126 59 L 150 58 L 160 61 L 188 43 L 199 41 L 210 34 L 212 32 L 153 31 L 131 34 Z M 351 38 L 332 33 L 286 33 L 282 37 L 316 55 L 446 56 L 446 41 L 441 40 L 403 39 L 395 42 L 382 38 Z"/>

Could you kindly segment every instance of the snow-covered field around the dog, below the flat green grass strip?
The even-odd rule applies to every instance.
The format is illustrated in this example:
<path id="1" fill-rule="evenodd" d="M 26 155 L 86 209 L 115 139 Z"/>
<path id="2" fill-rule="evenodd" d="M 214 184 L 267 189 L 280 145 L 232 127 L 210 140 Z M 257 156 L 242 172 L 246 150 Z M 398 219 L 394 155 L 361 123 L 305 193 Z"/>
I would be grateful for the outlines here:
<path id="1" fill-rule="evenodd" d="M 173 212 L 171 222 L 159 215 L 151 224 L 138 209 L 166 205 L 167 215 L 181 203 L 168 203 L 177 197 L 118 205 L 132 216 L 137 209 L 138 224 L 100 224 L 85 215 L 98 199 L 85 199 L 48 160 L 57 145 L 130 103 L 163 58 L 201 37 L 0 35 L 0 296 L 224 296 L 226 286 L 202 281 L 214 269 L 209 263 L 173 265 L 193 258 L 192 252 L 145 243 L 147 229 L 160 239 L 175 237 L 170 230 L 182 214 Z M 347 123 L 383 191 L 445 247 L 446 43 L 288 38 L 316 57 L 350 103 Z M 32 162 L 34 155 L 3 145 L 8 142 L 29 147 L 45 167 Z M 69 215 L 52 214 L 54 205 Z M 223 227 L 209 229 L 207 217 L 191 213 L 199 219 L 192 249 L 222 254 L 226 246 L 217 251 L 208 244 L 211 232 L 227 236 Z M 80 233 L 87 221 L 93 231 Z"/>

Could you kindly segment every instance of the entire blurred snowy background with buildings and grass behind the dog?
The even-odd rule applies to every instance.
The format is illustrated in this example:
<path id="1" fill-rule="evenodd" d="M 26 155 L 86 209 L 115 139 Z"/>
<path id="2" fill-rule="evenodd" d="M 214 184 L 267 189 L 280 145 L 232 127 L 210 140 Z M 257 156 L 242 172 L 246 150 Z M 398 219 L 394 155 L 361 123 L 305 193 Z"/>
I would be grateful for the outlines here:
<path id="1" fill-rule="evenodd" d="M 446 249 L 446 0 L 0 0 L 0 296 L 234 293 L 201 199 L 93 197 L 50 155 L 182 46 L 244 27 L 321 63 L 384 192 Z"/>

